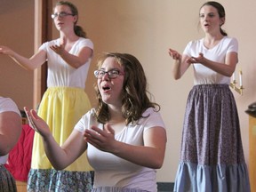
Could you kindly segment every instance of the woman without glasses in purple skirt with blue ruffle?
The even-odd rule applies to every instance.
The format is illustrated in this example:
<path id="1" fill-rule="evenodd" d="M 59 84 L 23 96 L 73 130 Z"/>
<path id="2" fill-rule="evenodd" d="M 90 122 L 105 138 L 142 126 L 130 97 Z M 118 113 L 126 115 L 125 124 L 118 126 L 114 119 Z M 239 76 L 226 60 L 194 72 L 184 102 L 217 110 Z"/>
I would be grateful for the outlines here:
<path id="1" fill-rule="evenodd" d="M 189 42 L 182 55 L 169 50 L 174 78 L 180 79 L 190 66 L 195 76 L 174 191 L 248 192 L 236 101 L 228 86 L 238 62 L 238 43 L 221 28 L 225 10 L 220 3 L 204 3 L 199 18 L 205 36 Z"/>

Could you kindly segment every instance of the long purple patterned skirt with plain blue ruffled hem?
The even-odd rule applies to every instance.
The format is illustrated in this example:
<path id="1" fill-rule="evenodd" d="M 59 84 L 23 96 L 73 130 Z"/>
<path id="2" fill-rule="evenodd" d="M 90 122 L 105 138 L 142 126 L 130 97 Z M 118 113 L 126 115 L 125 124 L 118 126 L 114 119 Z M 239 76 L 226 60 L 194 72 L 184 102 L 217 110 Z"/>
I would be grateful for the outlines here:
<path id="1" fill-rule="evenodd" d="M 195 85 L 189 92 L 174 191 L 250 191 L 236 101 L 228 84 Z"/>

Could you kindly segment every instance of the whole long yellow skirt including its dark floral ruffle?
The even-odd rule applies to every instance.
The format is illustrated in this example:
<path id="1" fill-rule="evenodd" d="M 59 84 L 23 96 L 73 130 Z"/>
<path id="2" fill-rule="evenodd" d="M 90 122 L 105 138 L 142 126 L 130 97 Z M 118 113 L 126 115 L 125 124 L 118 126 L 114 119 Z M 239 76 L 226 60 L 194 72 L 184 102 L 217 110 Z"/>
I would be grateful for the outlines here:
<path id="1" fill-rule="evenodd" d="M 68 139 L 75 124 L 91 108 L 84 90 L 70 87 L 48 88 L 38 108 L 38 116 L 49 125 L 60 146 Z M 56 171 L 44 153 L 41 136 L 34 136 L 28 191 L 89 191 L 92 167 L 86 153 L 63 171 Z"/>

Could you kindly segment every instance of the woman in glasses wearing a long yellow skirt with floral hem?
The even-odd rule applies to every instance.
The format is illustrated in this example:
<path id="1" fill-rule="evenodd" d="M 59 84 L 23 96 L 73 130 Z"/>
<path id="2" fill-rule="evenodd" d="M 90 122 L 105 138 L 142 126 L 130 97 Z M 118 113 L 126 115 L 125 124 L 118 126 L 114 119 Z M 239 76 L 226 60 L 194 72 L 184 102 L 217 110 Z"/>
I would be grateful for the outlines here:
<path id="1" fill-rule="evenodd" d="M 47 60 L 47 90 L 39 105 L 38 116 L 49 124 L 54 139 L 62 145 L 81 116 L 91 108 L 84 88 L 93 44 L 86 38 L 83 28 L 77 26 L 78 11 L 74 4 L 58 2 L 53 8 L 52 20 L 60 37 L 42 44 L 31 58 L 22 57 L 6 46 L 0 46 L 0 53 L 31 70 Z M 85 153 L 63 171 L 52 169 L 44 154 L 43 140 L 39 134 L 35 134 L 28 192 L 89 190 L 92 188 L 89 171 L 92 171 L 92 167 Z"/>

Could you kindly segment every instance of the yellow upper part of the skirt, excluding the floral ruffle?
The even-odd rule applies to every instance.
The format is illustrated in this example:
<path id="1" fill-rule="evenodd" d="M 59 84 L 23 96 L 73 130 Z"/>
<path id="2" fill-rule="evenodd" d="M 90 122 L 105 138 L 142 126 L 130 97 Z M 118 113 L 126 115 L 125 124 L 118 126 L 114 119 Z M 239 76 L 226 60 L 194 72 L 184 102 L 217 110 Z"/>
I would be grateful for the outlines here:
<path id="1" fill-rule="evenodd" d="M 48 88 L 38 108 L 38 116 L 49 125 L 54 139 L 60 146 L 67 140 L 79 119 L 91 108 L 90 100 L 83 89 L 70 87 Z M 36 132 L 32 150 L 32 169 L 54 169 L 44 153 L 41 136 Z M 66 169 L 70 172 L 88 172 L 86 152 Z"/>

